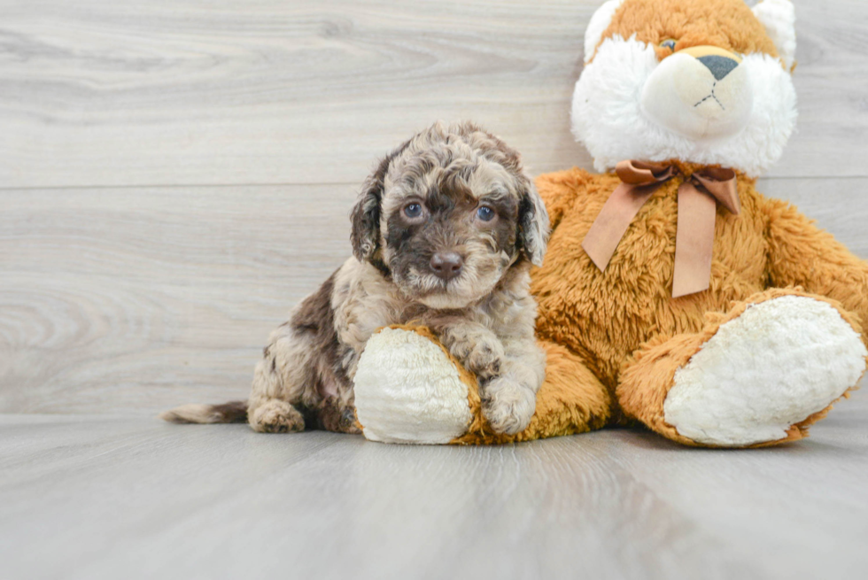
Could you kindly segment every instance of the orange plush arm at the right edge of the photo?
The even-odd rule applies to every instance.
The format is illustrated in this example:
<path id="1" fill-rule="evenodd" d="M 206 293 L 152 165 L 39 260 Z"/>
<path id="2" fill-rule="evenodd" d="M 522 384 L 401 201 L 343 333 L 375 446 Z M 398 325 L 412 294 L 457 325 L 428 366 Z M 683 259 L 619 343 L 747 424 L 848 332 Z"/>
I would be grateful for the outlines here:
<path id="1" fill-rule="evenodd" d="M 793 205 L 769 200 L 767 211 L 771 286 L 802 286 L 841 302 L 859 317 L 868 344 L 868 263 Z"/>

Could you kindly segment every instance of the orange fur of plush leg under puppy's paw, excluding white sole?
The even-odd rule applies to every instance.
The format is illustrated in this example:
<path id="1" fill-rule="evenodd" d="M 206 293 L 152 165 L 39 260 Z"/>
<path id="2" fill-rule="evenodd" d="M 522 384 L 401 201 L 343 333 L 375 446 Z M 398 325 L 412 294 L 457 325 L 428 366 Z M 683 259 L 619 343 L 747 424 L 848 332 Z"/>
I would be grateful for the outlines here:
<path id="1" fill-rule="evenodd" d="M 585 363 L 567 348 L 539 342 L 546 352 L 546 380 L 537 392 L 536 412 L 531 424 L 515 434 L 495 433 L 481 413 L 476 391 L 469 395 L 473 422 L 467 434 L 453 443 L 492 445 L 558 437 L 601 429 L 608 422 L 612 401 L 606 387 L 585 367 Z"/>

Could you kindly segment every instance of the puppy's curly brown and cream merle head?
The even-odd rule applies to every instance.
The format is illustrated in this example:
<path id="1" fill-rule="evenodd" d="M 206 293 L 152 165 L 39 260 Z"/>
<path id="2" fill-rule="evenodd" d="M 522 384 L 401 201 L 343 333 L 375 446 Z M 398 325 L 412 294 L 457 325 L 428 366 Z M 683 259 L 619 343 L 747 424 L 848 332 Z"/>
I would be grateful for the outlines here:
<path id="1" fill-rule="evenodd" d="M 472 123 L 437 123 L 391 151 L 352 220 L 356 259 L 432 308 L 462 308 L 510 269 L 539 266 L 548 237 L 518 153 Z"/>

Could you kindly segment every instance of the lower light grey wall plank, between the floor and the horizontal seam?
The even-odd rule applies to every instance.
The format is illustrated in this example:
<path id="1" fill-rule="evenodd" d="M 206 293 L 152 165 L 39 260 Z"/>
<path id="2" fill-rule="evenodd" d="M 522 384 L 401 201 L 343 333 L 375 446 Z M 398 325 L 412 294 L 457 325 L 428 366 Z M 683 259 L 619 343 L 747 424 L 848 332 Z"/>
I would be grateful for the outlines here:
<path id="1" fill-rule="evenodd" d="M 764 180 L 868 257 L 868 179 Z M 350 255 L 355 187 L 0 191 L 0 411 L 245 398 L 268 333 Z"/>

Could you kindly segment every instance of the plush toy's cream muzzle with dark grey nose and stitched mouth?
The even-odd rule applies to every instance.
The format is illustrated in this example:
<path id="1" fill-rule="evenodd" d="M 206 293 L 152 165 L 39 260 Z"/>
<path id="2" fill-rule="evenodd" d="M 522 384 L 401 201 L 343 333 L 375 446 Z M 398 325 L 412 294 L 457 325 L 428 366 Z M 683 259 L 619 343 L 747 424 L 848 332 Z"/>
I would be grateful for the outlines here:
<path id="1" fill-rule="evenodd" d="M 741 57 L 717 46 L 678 50 L 655 68 L 642 90 L 642 112 L 692 140 L 735 135 L 753 110 Z"/>

